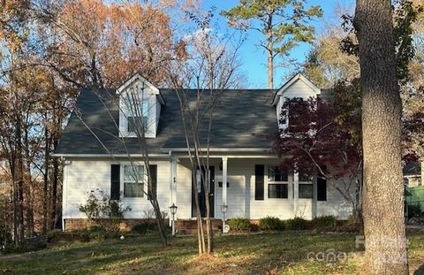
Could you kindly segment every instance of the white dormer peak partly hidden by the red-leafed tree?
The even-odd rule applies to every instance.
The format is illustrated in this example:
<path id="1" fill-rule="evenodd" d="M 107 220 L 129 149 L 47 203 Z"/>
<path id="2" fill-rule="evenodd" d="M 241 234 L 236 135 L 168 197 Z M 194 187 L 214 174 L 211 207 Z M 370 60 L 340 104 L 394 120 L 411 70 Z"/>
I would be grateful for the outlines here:
<path id="1" fill-rule="evenodd" d="M 276 123 L 278 128 L 284 128 L 289 123 L 288 121 L 285 124 L 279 122 L 283 104 L 287 98 L 303 98 L 307 100 L 310 97 L 317 97 L 318 95 L 321 95 L 321 89 L 316 87 L 314 83 L 301 73 L 294 75 L 290 80 L 285 82 L 281 88 L 276 90 L 272 100 L 272 105 L 276 106 Z"/>

